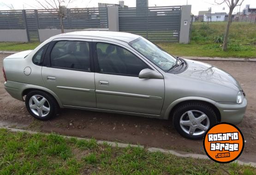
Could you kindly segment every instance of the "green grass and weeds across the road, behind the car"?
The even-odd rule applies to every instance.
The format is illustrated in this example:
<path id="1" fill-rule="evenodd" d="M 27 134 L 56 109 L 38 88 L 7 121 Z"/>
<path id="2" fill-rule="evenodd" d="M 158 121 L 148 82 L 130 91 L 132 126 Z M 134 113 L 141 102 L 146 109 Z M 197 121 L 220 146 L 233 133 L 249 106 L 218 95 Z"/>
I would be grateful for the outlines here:
<path id="1" fill-rule="evenodd" d="M 226 22 L 193 23 L 188 45 L 156 43 L 174 56 L 210 56 L 256 58 L 256 25 L 233 22 L 227 51 L 222 51 Z M 39 42 L 0 42 L 0 51 L 24 51 L 36 48 Z"/>

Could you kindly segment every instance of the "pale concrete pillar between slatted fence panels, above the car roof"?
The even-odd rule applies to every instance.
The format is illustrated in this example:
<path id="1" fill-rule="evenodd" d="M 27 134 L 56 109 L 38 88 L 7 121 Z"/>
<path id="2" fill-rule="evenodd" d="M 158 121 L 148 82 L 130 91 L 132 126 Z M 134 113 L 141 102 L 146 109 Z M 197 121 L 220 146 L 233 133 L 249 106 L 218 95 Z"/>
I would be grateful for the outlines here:
<path id="1" fill-rule="evenodd" d="M 119 32 L 119 12 L 117 7 L 107 7 L 108 29 Z"/>

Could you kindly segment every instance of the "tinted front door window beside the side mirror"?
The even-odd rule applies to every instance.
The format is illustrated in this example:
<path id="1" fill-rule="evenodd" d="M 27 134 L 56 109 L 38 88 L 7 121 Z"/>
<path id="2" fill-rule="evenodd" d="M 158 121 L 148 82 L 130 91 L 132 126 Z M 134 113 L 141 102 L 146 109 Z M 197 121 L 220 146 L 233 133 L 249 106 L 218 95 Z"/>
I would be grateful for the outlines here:
<path id="1" fill-rule="evenodd" d="M 138 76 L 149 68 L 140 58 L 118 45 L 97 43 L 97 57 L 101 73 Z"/>

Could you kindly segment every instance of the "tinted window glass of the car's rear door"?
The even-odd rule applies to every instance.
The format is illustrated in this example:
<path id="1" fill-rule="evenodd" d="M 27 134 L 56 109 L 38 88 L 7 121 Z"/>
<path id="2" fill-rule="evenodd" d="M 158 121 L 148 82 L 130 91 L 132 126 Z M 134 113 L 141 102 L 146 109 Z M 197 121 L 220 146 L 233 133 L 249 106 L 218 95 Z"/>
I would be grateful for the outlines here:
<path id="1" fill-rule="evenodd" d="M 58 41 L 51 55 L 51 67 L 90 71 L 89 43 L 85 41 Z"/>

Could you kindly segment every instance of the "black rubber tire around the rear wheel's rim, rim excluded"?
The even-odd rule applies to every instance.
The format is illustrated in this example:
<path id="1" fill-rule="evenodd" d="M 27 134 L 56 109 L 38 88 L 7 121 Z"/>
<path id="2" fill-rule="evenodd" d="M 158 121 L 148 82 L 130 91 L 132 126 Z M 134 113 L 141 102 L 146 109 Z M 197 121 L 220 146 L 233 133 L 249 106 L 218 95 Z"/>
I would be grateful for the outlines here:
<path id="1" fill-rule="evenodd" d="M 32 96 L 42 96 L 44 97 L 48 103 L 46 103 L 47 107 L 49 107 L 49 112 L 47 115 L 45 116 L 38 116 L 36 115 L 35 113 L 33 113 L 32 109 L 30 109 L 30 98 Z M 56 102 L 55 98 L 51 95 L 49 95 L 48 93 L 46 92 L 43 92 L 41 90 L 33 90 L 33 91 L 30 91 L 26 98 L 25 98 L 25 104 L 26 104 L 26 108 L 28 110 L 28 112 L 36 119 L 39 119 L 39 120 L 49 120 L 49 119 L 52 119 L 54 118 L 58 112 L 59 112 L 59 104 Z M 46 112 L 47 113 L 47 112 Z M 45 113 L 45 114 L 46 114 Z"/>

